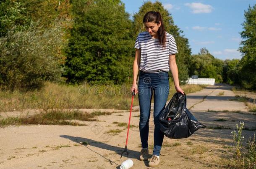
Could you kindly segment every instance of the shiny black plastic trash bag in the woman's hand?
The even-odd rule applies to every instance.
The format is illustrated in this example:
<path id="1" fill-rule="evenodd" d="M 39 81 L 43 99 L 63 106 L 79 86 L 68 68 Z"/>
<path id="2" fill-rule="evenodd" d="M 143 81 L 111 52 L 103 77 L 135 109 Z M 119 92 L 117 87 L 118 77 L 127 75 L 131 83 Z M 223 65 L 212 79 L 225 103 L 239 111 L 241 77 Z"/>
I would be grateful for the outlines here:
<path id="1" fill-rule="evenodd" d="M 186 102 L 185 94 L 175 93 L 159 116 L 160 131 L 170 139 L 187 138 L 206 127 L 188 111 Z"/>

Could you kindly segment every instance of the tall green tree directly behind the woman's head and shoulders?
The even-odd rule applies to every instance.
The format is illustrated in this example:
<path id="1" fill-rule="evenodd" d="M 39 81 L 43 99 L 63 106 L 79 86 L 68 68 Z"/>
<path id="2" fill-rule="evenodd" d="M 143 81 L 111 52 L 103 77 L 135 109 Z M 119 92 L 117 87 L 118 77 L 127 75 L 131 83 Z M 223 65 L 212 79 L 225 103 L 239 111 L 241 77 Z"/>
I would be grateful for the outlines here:
<path id="1" fill-rule="evenodd" d="M 183 33 L 182 30 L 174 24 L 171 14 L 163 7 L 162 3 L 156 1 L 152 3 L 150 1 L 145 2 L 139 9 L 138 13 L 133 15 L 133 28 L 134 28 L 134 39 L 138 33 L 145 31 L 143 17 L 148 11 L 158 11 L 162 15 L 163 22 L 165 24 L 165 30 L 172 34 L 175 38 L 178 53 L 176 54 L 176 61 L 179 69 L 179 80 L 180 83 L 185 83 L 188 79 L 188 64 L 191 59 L 191 48 L 188 44 L 188 39 L 180 35 Z"/>

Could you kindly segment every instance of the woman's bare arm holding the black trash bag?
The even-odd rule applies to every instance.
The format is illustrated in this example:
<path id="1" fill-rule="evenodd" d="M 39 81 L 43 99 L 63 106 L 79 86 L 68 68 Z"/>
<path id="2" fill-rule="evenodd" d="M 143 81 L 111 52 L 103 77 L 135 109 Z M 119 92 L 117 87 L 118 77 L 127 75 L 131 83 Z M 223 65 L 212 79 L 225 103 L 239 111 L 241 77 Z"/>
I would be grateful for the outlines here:
<path id="1" fill-rule="evenodd" d="M 176 64 L 175 54 L 169 55 L 170 70 L 174 81 L 174 86 L 177 92 L 184 94 L 184 91 L 180 88 L 178 67 Z"/>

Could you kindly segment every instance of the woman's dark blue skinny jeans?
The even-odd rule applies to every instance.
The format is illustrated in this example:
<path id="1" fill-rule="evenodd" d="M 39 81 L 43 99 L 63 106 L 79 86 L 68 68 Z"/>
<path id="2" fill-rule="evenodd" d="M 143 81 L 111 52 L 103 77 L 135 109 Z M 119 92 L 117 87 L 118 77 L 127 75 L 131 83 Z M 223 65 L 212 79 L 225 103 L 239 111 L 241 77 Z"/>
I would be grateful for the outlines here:
<path id="1" fill-rule="evenodd" d="M 154 93 L 154 150 L 153 155 L 160 156 L 164 134 L 159 128 L 159 115 L 164 110 L 169 94 L 169 75 L 160 73 L 145 73 L 140 71 L 138 81 L 138 101 L 140 106 L 139 130 L 141 147 L 148 147 L 149 117 L 151 100 Z"/>

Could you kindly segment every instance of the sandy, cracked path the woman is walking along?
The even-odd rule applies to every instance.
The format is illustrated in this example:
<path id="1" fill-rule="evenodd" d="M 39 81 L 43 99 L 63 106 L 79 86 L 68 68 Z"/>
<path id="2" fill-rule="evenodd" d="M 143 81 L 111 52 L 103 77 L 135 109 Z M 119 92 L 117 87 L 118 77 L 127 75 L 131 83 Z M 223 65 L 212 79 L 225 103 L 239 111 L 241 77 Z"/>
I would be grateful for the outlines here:
<path id="1" fill-rule="evenodd" d="M 224 92 L 224 93 L 223 93 Z M 218 96 L 223 93 L 222 96 Z M 244 121 L 246 139 L 253 136 L 256 116 L 246 109 L 243 102 L 234 98 L 230 86 L 208 86 L 202 91 L 188 94 L 188 108 L 196 118 L 210 128 L 200 129 L 186 139 L 165 137 L 161 150 L 160 166 L 157 168 L 204 169 L 222 168 L 232 158 L 232 136 L 235 124 Z M 128 150 L 134 162 L 133 169 L 151 168 L 139 161 L 141 142 L 138 131 L 139 111 L 132 113 Z M 212 112 L 208 112 L 212 111 Z M 240 111 L 217 112 L 217 111 Z M 100 121 L 86 121 L 87 126 L 29 125 L 0 128 L 0 169 L 115 169 L 126 157 L 120 159 L 125 146 L 125 127 L 113 122 L 128 123 L 129 112 L 122 111 L 109 116 L 99 116 Z M 214 121 L 225 119 L 227 121 Z M 149 153 L 153 148 L 154 122 L 149 122 Z M 211 129 L 218 126 L 220 129 Z M 105 132 L 120 129 L 116 135 Z"/>

